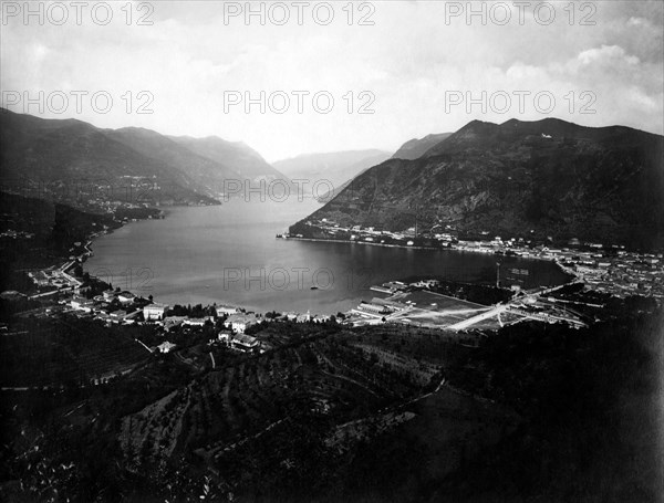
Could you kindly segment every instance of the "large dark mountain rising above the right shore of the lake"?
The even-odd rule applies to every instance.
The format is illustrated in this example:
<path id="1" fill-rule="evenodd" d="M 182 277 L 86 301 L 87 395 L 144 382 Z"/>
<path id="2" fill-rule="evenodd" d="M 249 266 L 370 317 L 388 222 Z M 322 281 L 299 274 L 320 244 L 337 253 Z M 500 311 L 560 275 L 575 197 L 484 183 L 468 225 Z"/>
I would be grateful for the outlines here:
<path id="1" fill-rule="evenodd" d="M 367 169 L 305 222 L 421 233 L 579 238 L 664 244 L 664 137 L 547 118 L 473 120 L 416 159 Z"/>

